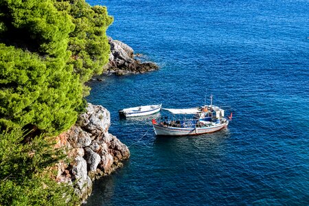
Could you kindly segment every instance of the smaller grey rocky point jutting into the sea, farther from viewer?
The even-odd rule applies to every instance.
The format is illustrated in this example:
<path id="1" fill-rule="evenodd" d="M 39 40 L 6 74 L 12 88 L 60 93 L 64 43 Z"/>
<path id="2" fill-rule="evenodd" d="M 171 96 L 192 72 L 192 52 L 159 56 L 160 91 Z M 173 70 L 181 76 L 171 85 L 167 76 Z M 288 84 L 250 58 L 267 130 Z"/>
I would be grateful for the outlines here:
<path id="1" fill-rule="evenodd" d="M 137 60 L 133 49 L 125 43 L 113 40 L 111 37 L 108 37 L 108 43 L 111 45 L 111 54 L 104 74 L 115 73 L 117 75 L 124 75 L 127 73 L 144 73 L 159 69 L 155 63 Z"/>

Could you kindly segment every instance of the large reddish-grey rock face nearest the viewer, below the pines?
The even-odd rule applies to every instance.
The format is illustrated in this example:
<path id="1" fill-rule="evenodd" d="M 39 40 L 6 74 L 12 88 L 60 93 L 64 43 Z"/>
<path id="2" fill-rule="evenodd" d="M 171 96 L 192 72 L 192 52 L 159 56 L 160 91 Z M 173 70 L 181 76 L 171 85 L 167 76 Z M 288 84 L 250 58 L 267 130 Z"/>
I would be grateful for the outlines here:
<path id="1" fill-rule="evenodd" d="M 75 126 L 59 135 L 56 147 L 67 147 L 73 161 L 58 163 L 57 181 L 70 183 L 82 201 L 92 191 L 92 181 L 111 174 L 130 157 L 128 147 L 108 133 L 110 113 L 103 106 L 88 104 Z"/>

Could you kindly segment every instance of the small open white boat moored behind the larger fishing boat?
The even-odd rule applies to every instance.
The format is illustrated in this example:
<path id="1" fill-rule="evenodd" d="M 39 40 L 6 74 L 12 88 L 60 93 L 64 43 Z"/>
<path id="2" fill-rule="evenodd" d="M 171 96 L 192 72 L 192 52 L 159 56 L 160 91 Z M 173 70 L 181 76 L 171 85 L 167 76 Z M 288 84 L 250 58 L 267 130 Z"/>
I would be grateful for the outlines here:
<path id="1" fill-rule="evenodd" d="M 121 117 L 139 117 L 144 115 L 152 115 L 161 110 L 162 104 L 154 104 L 147 106 L 136 106 L 119 110 Z"/>

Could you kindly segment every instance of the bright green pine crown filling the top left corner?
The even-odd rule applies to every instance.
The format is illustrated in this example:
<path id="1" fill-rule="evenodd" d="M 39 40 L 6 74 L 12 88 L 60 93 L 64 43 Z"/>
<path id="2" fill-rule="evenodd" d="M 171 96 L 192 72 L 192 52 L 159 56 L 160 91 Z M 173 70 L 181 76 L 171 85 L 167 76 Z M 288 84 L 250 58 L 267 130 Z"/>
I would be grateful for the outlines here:
<path id="1" fill-rule="evenodd" d="M 0 36 L 7 45 L 65 56 L 74 25 L 71 16 L 56 10 L 52 0 L 2 0 L 0 11 Z"/>

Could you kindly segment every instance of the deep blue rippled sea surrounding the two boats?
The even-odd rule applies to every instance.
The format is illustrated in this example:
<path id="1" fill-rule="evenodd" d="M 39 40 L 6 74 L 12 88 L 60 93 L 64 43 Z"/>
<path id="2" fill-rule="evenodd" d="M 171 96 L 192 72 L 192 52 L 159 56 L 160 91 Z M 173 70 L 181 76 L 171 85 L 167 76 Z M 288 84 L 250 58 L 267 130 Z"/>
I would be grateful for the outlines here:
<path id="1" fill-rule="evenodd" d="M 309 205 L 309 1 L 88 2 L 114 16 L 109 36 L 161 68 L 90 83 L 89 102 L 133 145 L 87 205 Z M 151 117 L 117 114 L 200 106 L 206 91 L 231 106 L 227 130 L 156 137 Z"/>

